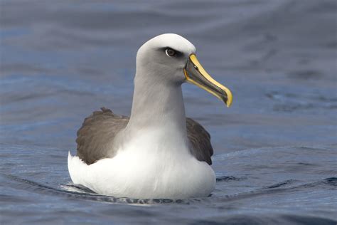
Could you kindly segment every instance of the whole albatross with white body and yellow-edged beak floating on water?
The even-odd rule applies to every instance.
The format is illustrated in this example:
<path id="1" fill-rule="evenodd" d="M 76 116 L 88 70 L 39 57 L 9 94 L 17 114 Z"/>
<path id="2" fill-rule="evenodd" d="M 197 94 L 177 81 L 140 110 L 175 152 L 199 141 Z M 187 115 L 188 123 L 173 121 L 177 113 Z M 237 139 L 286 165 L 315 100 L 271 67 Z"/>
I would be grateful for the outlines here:
<path id="1" fill-rule="evenodd" d="M 232 93 L 177 34 L 144 43 L 136 64 L 130 117 L 101 108 L 77 131 L 77 155 L 68 154 L 73 183 L 113 197 L 208 197 L 215 188 L 213 147 L 209 133 L 186 117 L 181 85 L 197 85 L 228 107 Z"/>

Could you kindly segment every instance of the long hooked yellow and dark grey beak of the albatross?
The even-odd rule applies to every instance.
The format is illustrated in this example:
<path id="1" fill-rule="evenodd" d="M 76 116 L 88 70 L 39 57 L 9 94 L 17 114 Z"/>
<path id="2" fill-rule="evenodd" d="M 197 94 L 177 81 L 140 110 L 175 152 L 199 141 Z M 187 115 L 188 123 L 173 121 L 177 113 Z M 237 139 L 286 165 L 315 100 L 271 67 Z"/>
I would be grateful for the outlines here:
<path id="1" fill-rule="evenodd" d="M 196 58 L 196 54 L 191 54 L 186 63 L 186 67 L 183 69 L 186 80 L 188 83 L 193 83 L 203 90 L 207 90 L 215 97 L 223 100 L 223 102 L 230 107 L 232 105 L 232 93 L 224 85 L 214 80 L 201 66 Z"/>

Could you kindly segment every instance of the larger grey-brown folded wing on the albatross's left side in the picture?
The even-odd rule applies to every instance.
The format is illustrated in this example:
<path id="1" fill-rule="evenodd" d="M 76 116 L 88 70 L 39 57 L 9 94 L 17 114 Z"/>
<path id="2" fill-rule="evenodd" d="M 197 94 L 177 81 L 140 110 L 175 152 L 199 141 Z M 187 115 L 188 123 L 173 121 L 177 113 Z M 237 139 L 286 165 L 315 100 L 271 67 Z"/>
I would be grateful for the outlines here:
<path id="1" fill-rule="evenodd" d="M 129 117 L 116 115 L 107 108 L 101 110 L 85 118 L 77 131 L 77 156 L 86 164 L 113 157 L 116 154 L 111 147 L 114 137 L 129 122 Z"/>

